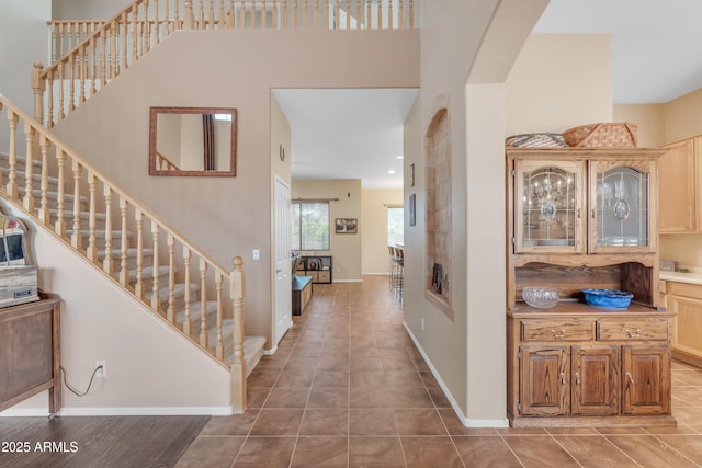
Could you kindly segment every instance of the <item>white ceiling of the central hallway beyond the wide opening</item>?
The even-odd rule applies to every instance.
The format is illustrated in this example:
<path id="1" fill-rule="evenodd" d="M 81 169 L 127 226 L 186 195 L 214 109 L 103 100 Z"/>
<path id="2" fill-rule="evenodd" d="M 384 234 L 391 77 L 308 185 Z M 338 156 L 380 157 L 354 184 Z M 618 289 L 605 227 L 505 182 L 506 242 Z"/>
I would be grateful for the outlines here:
<path id="1" fill-rule="evenodd" d="M 403 126 L 417 89 L 274 90 L 292 130 L 292 176 L 403 187 Z M 393 171 L 393 172 L 390 172 Z"/>

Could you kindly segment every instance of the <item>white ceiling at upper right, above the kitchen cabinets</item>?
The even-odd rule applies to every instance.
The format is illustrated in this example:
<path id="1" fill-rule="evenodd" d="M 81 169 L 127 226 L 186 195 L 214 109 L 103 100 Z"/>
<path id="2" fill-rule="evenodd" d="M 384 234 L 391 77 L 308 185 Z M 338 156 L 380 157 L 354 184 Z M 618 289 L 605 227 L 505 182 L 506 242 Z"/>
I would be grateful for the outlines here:
<path id="1" fill-rule="evenodd" d="M 535 33 L 611 34 L 615 104 L 664 103 L 702 88 L 702 1 L 551 0 Z"/>

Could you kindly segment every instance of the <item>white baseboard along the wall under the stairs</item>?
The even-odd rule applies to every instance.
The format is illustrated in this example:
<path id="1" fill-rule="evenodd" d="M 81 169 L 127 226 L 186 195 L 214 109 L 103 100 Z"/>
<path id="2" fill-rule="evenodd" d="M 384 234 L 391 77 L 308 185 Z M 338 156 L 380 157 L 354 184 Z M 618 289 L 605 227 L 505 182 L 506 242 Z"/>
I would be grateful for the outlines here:
<path id="1" fill-rule="evenodd" d="M 228 416 L 233 407 L 126 407 L 126 408 L 61 408 L 57 416 Z M 0 418 L 47 418 L 46 408 L 8 409 Z"/>

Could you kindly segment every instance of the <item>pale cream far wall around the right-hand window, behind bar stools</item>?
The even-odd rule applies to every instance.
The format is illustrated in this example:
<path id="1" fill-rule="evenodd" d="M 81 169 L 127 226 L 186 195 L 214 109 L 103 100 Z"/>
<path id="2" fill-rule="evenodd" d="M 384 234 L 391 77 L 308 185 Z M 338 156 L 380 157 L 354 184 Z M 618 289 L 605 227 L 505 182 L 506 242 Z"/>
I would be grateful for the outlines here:
<path id="1" fill-rule="evenodd" d="M 411 189 L 408 185 L 408 190 Z M 364 275 L 388 274 L 387 205 L 403 205 L 401 189 L 363 189 L 361 269 Z M 405 207 L 407 209 L 407 207 Z M 407 212 L 405 213 L 407 219 Z M 405 231 L 409 224 L 405 222 Z"/>

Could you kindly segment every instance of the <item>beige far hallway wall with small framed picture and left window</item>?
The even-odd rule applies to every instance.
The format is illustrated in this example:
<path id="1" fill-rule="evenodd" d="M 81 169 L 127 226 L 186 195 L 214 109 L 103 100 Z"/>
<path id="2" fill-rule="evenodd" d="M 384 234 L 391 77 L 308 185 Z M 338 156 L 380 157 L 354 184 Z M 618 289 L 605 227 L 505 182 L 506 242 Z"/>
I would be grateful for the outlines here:
<path id="1" fill-rule="evenodd" d="M 294 157 L 294 156 L 293 156 Z M 303 251 L 310 255 L 332 256 L 333 282 L 360 282 L 361 277 L 361 240 L 365 225 L 362 219 L 362 191 L 358 179 L 301 181 L 293 180 L 292 198 L 339 198 L 329 202 L 329 251 Z M 358 233 L 335 233 L 337 218 L 355 218 L 359 220 Z"/>

